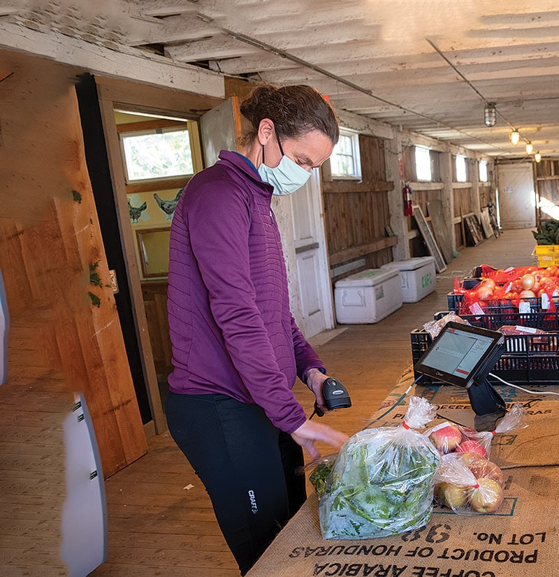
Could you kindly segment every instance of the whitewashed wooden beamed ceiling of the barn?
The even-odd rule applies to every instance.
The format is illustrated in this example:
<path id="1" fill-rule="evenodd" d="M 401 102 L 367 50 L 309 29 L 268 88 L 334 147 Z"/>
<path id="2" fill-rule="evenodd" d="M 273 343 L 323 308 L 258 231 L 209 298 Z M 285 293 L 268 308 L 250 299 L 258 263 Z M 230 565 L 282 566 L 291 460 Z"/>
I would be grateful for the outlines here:
<path id="1" fill-rule="evenodd" d="M 520 158 L 530 140 L 542 156 L 559 157 L 558 0 L 43 4 L 61 34 L 78 30 L 226 75 L 311 84 L 337 109 L 488 156 Z M 496 104 L 493 128 L 484 125 L 484 102 Z M 516 147 L 512 126 L 521 133 Z"/>

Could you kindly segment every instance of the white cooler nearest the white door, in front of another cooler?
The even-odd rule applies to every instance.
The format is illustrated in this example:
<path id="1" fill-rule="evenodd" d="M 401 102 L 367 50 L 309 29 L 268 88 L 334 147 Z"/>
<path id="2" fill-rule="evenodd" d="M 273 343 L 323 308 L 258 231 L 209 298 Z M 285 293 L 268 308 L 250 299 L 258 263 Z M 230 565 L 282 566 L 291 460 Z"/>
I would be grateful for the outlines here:
<path id="1" fill-rule="evenodd" d="M 370 268 L 337 281 L 334 302 L 338 323 L 377 323 L 402 306 L 398 269 Z"/>

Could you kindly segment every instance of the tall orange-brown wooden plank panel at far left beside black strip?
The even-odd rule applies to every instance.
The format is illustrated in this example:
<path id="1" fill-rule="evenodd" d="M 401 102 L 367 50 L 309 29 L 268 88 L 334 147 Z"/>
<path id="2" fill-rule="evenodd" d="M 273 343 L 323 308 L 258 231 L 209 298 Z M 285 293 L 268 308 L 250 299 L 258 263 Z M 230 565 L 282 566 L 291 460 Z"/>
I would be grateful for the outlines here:
<path id="1" fill-rule="evenodd" d="M 20 54 L 2 55 L 14 70 L 0 84 L 0 267 L 8 308 L 15 326 L 19 315 L 30 310 L 52 314 L 47 327 L 38 324 L 41 315 L 26 316 L 24 329 L 27 335 L 48 330 L 51 356 L 43 370 L 61 372 L 66 396 L 85 393 L 108 476 L 143 455 L 147 442 L 85 166 L 72 84 L 80 71 Z M 94 266 L 99 280 L 90 278 Z M 20 361 L 8 358 L 8 379 L 22 370 Z M 12 410 L 17 414 L 22 408 Z M 59 415 L 60 421 L 64 416 Z"/>

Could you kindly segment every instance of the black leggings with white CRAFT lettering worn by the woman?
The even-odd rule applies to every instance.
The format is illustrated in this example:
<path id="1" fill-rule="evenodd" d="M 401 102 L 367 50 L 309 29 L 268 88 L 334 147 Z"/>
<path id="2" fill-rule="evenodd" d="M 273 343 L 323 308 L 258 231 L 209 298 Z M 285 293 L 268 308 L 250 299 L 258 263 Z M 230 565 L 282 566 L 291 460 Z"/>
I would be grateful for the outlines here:
<path id="1" fill-rule="evenodd" d="M 305 501 L 303 451 L 261 407 L 226 395 L 169 393 L 166 417 L 245 575 Z"/>

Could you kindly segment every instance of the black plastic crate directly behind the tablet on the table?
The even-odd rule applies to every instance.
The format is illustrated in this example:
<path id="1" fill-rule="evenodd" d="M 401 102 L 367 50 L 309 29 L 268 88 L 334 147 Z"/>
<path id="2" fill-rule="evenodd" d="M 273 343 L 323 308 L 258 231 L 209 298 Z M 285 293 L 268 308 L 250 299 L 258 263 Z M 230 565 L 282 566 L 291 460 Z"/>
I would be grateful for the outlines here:
<path id="1" fill-rule="evenodd" d="M 415 366 L 433 339 L 423 328 L 413 330 L 409 336 L 412 339 L 412 362 Z M 491 372 L 504 381 L 519 385 L 559 384 L 559 333 L 505 335 L 504 342 L 507 348 Z M 500 382 L 493 377 L 488 379 L 495 384 Z M 437 381 L 424 376 L 420 382 L 428 384 Z"/>

